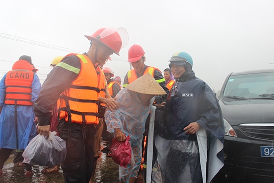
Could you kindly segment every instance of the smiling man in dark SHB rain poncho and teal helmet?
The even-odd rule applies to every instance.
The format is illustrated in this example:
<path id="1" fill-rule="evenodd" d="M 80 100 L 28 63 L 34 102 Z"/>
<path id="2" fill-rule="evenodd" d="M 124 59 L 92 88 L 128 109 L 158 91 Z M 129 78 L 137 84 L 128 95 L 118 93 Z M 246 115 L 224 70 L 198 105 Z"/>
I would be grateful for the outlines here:
<path id="1" fill-rule="evenodd" d="M 222 112 L 214 92 L 195 76 L 188 53 L 177 52 L 169 61 L 175 84 L 163 116 L 155 119 L 154 168 L 160 169 L 153 171 L 152 182 L 209 183 L 224 164 Z"/>

